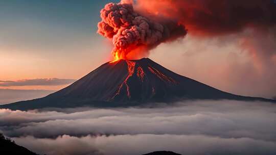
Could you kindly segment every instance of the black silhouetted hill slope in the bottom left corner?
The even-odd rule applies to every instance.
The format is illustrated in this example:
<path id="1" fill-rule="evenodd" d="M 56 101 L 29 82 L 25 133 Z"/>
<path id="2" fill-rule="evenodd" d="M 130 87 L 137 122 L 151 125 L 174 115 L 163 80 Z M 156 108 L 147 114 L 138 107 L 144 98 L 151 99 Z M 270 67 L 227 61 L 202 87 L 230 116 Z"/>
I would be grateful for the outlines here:
<path id="1" fill-rule="evenodd" d="M 25 147 L 16 145 L 10 139 L 5 138 L 3 134 L 0 133 L 0 154 L 11 154 L 11 155 L 38 155 Z"/>

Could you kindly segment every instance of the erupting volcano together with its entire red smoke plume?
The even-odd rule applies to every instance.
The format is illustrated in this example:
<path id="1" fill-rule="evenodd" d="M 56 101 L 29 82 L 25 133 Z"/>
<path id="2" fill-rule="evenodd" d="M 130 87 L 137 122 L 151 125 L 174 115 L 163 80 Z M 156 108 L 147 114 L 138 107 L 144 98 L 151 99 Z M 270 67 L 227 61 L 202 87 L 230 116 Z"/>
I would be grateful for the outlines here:
<path id="1" fill-rule="evenodd" d="M 261 5 L 269 10 L 268 13 L 271 14 L 271 17 L 274 17 L 275 9 L 271 7 L 270 2 L 258 1 L 252 6 L 247 6 L 249 3 L 239 2 L 240 7 L 236 7 L 236 2 L 218 1 L 220 2 L 219 7 L 213 7 L 214 1 L 204 1 L 204 3 L 209 4 L 206 6 L 212 6 L 207 13 L 200 7 L 192 5 L 194 3 L 192 1 L 176 1 L 175 4 L 177 5 L 175 6 L 164 5 L 166 4 L 165 1 L 163 3 L 156 1 L 158 7 L 165 7 L 165 9 L 157 8 L 157 12 L 152 5 L 150 7 L 145 5 L 149 2 L 153 3 L 152 1 L 137 2 L 140 2 L 138 9 L 137 6 L 135 9 L 130 1 L 122 0 L 118 4 L 109 3 L 101 10 L 102 20 L 98 23 L 98 34 L 112 40 L 114 45 L 113 61 L 101 65 L 74 84 L 46 97 L 16 102 L 0 106 L 0 108 L 28 110 L 46 107 L 122 107 L 141 106 L 149 102 L 171 103 L 183 99 L 235 99 L 274 102 L 274 100 L 244 97 L 220 91 L 176 74 L 148 58 L 132 60 L 147 56 L 149 50 L 160 43 L 185 37 L 187 29 L 184 23 L 188 27 L 190 25 L 189 29 L 201 30 L 198 30 L 198 32 L 202 32 L 201 35 L 227 34 L 238 32 L 242 28 L 246 28 L 247 25 L 259 25 L 259 18 L 251 18 L 251 14 L 248 12 L 255 6 Z M 163 5 L 159 6 L 158 3 Z M 195 4 L 197 3 L 203 2 L 196 1 Z M 217 13 L 217 9 L 227 10 L 228 16 Z M 232 23 L 232 17 L 236 17 L 237 9 L 245 14 L 240 16 L 240 20 L 237 20 L 240 21 L 239 24 L 236 22 L 225 24 L 229 23 L 227 21 Z M 184 12 L 181 13 L 182 11 Z M 260 14 L 262 12 L 261 10 Z M 223 18 L 217 17 L 217 15 L 222 15 Z M 248 18 L 250 20 L 244 20 L 244 18 L 247 19 L 247 16 L 250 17 Z M 208 22 L 204 22 L 204 24 L 198 22 L 201 20 L 208 20 Z M 267 18 L 261 25 L 265 25 L 265 23 L 274 24 L 272 21 L 274 20 Z M 193 26 L 191 27 L 191 25 Z M 220 29 L 214 31 L 214 25 L 219 25 Z M 238 27 L 236 27 L 237 25 Z M 222 30 L 225 32 L 221 32 Z"/>

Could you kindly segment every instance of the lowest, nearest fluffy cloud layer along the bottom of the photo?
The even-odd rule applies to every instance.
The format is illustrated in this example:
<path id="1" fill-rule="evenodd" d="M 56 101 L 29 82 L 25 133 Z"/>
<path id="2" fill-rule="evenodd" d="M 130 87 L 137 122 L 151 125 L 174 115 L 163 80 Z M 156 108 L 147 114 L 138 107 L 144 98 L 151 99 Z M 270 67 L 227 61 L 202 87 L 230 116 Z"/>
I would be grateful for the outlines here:
<path id="1" fill-rule="evenodd" d="M 172 150 L 181 154 L 275 154 L 276 144 L 250 138 L 220 138 L 203 135 L 120 135 L 36 139 L 14 138 L 15 142 L 47 154 L 133 154 Z M 44 146 L 44 147 L 41 147 Z"/>

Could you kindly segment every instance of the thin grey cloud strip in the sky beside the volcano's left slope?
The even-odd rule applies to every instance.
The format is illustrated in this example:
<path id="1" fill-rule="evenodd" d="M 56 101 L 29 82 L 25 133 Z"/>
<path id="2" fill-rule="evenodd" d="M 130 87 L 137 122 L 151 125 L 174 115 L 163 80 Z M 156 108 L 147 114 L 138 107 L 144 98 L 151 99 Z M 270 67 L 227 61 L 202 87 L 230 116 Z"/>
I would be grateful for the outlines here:
<path id="1" fill-rule="evenodd" d="M 26 79 L 18 81 L 0 81 L 1 87 L 11 86 L 60 86 L 75 82 L 74 79 Z"/>

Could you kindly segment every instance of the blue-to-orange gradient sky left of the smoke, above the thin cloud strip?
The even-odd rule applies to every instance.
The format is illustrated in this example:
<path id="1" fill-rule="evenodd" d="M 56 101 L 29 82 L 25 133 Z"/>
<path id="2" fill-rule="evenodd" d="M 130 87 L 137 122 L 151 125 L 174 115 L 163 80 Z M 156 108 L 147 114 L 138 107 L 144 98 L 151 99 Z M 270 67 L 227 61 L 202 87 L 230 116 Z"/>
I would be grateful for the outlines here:
<path id="1" fill-rule="evenodd" d="M 108 1 L 1 1 L 1 80 L 78 79 L 109 60 L 96 34 Z"/>

